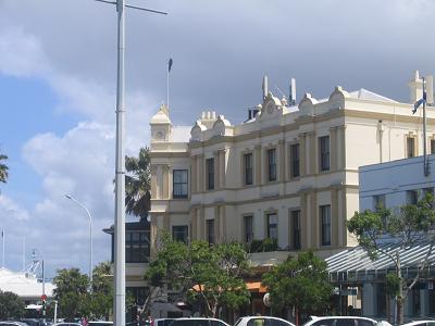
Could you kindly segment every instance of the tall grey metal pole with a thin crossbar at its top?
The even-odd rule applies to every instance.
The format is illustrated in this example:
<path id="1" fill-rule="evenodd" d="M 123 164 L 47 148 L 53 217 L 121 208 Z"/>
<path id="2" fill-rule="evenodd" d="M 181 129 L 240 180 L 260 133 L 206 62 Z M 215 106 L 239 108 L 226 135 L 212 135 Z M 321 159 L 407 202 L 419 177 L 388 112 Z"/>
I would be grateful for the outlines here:
<path id="1" fill-rule="evenodd" d="M 125 0 L 95 0 L 116 5 L 117 11 L 117 77 L 116 77 L 116 165 L 115 165 L 115 252 L 114 252 L 114 286 L 115 298 L 113 304 L 113 324 L 125 325 L 125 149 L 124 149 L 124 121 L 125 121 L 125 8 L 137 9 L 158 14 L 166 12 L 151 10 L 142 7 L 126 4 Z"/>

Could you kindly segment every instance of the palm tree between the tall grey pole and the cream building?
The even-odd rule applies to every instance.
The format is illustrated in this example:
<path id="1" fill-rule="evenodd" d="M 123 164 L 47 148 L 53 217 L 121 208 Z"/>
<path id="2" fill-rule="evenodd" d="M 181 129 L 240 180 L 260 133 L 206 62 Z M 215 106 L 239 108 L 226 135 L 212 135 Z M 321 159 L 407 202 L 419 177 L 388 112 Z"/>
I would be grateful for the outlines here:
<path id="1" fill-rule="evenodd" d="M 125 211 L 146 218 L 151 208 L 149 149 L 141 148 L 138 158 L 125 156 Z"/>

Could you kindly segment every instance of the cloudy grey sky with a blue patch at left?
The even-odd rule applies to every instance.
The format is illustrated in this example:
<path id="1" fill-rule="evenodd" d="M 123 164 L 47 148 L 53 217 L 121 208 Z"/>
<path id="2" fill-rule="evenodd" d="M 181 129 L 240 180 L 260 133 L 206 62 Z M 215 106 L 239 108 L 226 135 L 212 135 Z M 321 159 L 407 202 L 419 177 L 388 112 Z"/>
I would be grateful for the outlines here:
<path id="1" fill-rule="evenodd" d="M 127 1 L 128 2 L 128 1 Z M 435 73 L 431 0 L 130 0 L 169 12 L 126 12 L 126 153 L 149 145 L 149 120 L 166 98 L 171 120 L 192 125 L 201 111 L 232 124 L 272 92 L 325 98 L 337 85 L 409 101 L 414 70 Z M 115 7 L 94 0 L 0 0 L 0 185 L 5 267 L 33 249 L 46 274 L 88 273 L 110 259 L 114 220 Z M 130 220 L 134 220 L 130 217 Z M 1 243 L 0 243 L 1 247 Z"/>

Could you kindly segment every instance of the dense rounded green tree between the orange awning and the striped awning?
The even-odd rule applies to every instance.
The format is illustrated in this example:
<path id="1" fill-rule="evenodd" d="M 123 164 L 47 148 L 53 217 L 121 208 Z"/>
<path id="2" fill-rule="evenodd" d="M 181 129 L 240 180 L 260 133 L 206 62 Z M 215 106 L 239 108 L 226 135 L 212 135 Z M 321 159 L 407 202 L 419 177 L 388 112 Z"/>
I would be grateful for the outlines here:
<path id="1" fill-rule="evenodd" d="M 285 262 L 265 273 L 262 283 L 269 288 L 272 306 L 294 306 L 297 324 L 300 314 L 324 314 L 333 293 L 326 267 L 325 261 L 312 251 L 307 251 L 297 259 L 288 256 Z"/>

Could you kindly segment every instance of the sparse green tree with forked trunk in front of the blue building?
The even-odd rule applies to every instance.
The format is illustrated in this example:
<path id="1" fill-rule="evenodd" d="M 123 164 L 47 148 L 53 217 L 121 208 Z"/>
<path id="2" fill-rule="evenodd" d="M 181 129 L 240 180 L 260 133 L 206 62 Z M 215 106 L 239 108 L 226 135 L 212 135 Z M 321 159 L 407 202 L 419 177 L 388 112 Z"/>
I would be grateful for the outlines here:
<path id="1" fill-rule="evenodd" d="M 403 301 L 421 278 L 435 243 L 433 202 L 434 197 L 426 193 L 417 204 L 402 205 L 395 211 L 377 208 L 375 212 L 370 210 L 356 212 L 347 223 L 349 233 L 356 236 L 359 244 L 366 251 L 371 260 L 377 260 L 380 254 L 385 254 L 394 263 L 395 273 L 387 277 L 387 290 L 388 293 L 397 296 L 396 313 L 399 324 L 403 323 Z M 382 246 L 386 237 L 394 239 L 394 242 L 397 243 L 396 252 Z M 425 258 L 417 266 L 415 277 L 408 281 L 401 274 L 399 250 L 410 248 L 421 240 L 428 241 L 430 246 Z"/>

